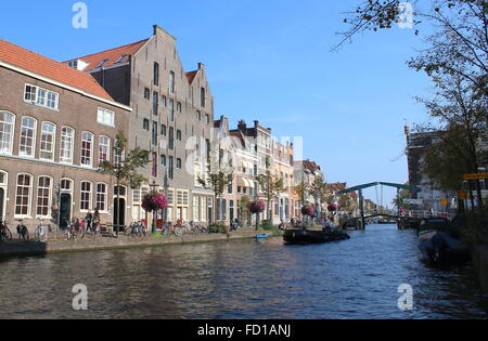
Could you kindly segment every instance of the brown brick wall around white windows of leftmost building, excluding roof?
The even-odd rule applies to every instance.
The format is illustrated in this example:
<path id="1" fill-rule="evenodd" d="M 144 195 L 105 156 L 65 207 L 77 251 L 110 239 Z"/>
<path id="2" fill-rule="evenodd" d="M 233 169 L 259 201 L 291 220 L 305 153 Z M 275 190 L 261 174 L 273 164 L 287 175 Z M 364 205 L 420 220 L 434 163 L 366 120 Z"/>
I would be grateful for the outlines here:
<path id="1" fill-rule="evenodd" d="M 50 82 L 26 76 L 11 69 L 0 67 L 0 112 L 8 112 L 14 115 L 14 136 L 11 154 L 1 154 L 0 152 L 0 172 L 3 174 L 4 205 L 3 212 L 0 215 L 5 217 L 11 226 L 16 225 L 16 220 L 24 219 L 25 224 L 33 229 L 37 226 L 39 179 L 46 176 L 49 179 L 47 185 L 48 192 L 43 193 L 49 200 L 48 214 L 41 214 L 47 222 L 57 223 L 57 197 L 62 179 L 73 181 L 70 191 L 65 191 L 72 198 L 70 218 L 85 218 L 88 210 L 81 210 L 81 182 L 91 183 L 91 194 L 89 210 L 94 210 L 97 206 L 97 186 L 104 184 L 106 186 L 105 209 L 101 211 L 103 221 L 112 222 L 113 219 L 113 183 L 111 176 L 102 175 L 97 172 L 99 162 L 99 142 L 100 136 L 110 139 L 111 144 L 115 141 L 118 129 L 127 129 L 129 110 L 120 108 L 115 103 L 106 103 L 95 99 L 88 97 L 72 90 L 54 86 Z M 59 94 L 59 109 L 53 110 L 30 104 L 24 101 L 25 84 L 37 86 Z M 115 113 L 115 127 L 108 127 L 98 123 L 98 108 L 102 107 Z M 37 122 L 35 130 L 34 156 L 26 157 L 20 155 L 21 132 L 23 117 L 30 117 Z M 40 159 L 40 146 L 42 123 L 49 122 L 55 126 L 54 133 L 54 155 L 52 160 Z M 61 132 L 63 127 L 69 127 L 75 130 L 74 157 L 73 165 L 61 163 Z M 80 166 L 81 159 L 81 135 L 82 132 L 93 134 L 92 145 L 92 166 Z M 113 158 L 113 150 L 111 157 Z M 26 199 L 28 200 L 28 212 L 26 214 L 15 214 L 17 192 L 17 179 L 20 174 L 26 174 L 30 179 L 29 188 L 26 189 Z M 5 181 L 7 179 L 7 181 Z M 46 205 L 46 202 L 44 202 Z"/>

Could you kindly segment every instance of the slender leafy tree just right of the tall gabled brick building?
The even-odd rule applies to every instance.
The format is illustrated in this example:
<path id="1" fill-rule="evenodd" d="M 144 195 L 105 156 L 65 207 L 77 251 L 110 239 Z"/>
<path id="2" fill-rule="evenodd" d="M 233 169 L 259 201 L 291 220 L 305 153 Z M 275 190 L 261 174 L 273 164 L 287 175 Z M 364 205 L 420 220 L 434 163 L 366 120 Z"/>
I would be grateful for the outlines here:
<path id="1" fill-rule="evenodd" d="M 217 221 L 217 201 L 223 195 L 223 192 L 232 183 L 234 174 L 232 168 L 224 162 L 223 153 L 218 148 L 210 150 L 207 159 L 207 174 L 206 178 L 198 175 L 198 184 L 214 192 L 214 220 Z M 210 223 L 214 223 L 210 221 Z"/>

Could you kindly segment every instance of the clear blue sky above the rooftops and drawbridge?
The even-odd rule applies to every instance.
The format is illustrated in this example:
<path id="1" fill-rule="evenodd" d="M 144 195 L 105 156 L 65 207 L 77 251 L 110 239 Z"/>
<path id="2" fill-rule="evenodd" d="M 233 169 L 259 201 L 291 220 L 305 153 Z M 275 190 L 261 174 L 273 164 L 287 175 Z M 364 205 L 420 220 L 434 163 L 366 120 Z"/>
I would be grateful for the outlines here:
<path id="1" fill-rule="evenodd" d="M 75 2 L 2 1 L 0 38 L 65 61 L 149 38 L 158 24 L 178 38 L 187 70 L 206 64 L 216 116 L 304 136 L 329 182 L 408 181 L 406 157 L 391 159 L 404 149 L 404 119 L 426 119 L 413 96 L 431 83 L 406 66 L 421 41 L 395 27 L 331 52 L 359 1 L 86 0 L 88 29 L 72 26 Z"/>

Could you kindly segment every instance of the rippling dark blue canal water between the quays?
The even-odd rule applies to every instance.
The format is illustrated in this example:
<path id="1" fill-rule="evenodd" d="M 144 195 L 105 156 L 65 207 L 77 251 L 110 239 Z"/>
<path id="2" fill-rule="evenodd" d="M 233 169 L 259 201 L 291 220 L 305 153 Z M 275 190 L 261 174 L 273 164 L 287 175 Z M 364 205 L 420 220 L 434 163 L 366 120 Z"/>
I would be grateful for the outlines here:
<path id="1" fill-rule="evenodd" d="M 0 260 L 0 318 L 486 318 L 467 266 L 419 259 L 416 235 L 393 225 L 319 246 L 265 241 Z M 77 284 L 88 311 L 75 312 Z M 413 288 L 400 311 L 398 287 Z"/>

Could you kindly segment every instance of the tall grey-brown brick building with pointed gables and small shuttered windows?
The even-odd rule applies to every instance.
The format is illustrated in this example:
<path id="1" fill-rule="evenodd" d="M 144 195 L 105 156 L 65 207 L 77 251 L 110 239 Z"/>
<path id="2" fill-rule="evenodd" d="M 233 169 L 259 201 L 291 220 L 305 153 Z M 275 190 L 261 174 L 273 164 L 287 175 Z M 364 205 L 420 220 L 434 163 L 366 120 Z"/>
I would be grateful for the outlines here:
<path id="1" fill-rule="evenodd" d="M 150 150 L 149 179 L 128 188 L 130 220 L 145 218 L 142 197 L 155 185 L 169 207 L 158 220 L 208 222 L 213 195 L 195 183 L 206 172 L 206 150 L 214 126 L 214 99 L 204 64 L 187 73 L 176 38 L 158 26 L 153 36 L 131 44 L 74 58 L 67 65 L 90 74 L 118 102 L 131 106 L 131 148 Z"/>

